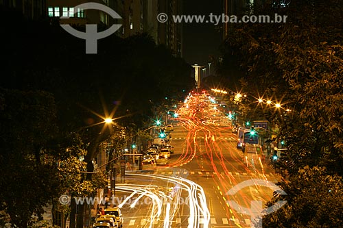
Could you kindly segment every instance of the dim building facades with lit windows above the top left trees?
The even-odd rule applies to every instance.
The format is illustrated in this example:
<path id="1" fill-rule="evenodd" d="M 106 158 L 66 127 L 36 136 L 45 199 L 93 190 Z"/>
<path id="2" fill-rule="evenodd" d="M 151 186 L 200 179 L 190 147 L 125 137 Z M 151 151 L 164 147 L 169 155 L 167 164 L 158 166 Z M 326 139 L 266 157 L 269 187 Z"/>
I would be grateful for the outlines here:
<path id="1" fill-rule="evenodd" d="M 83 10 L 75 6 L 82 3 L 101 3 L 115 10 L 121 19 L 112 18 L 100 10 Z M 182 23 L 168 20 L 158 23 L 158 13 L 182 14 L 182 0 L 0 0 L 3 8 L 15 9 L 32 20 L 61 19 L 70 25 L 102 24 L 110 27 L 121 24 L 117 36 L 127 38 L 137 33 L 148 33 L 157 45 L 166 45 L 174 55 L 182 57 Z"/>

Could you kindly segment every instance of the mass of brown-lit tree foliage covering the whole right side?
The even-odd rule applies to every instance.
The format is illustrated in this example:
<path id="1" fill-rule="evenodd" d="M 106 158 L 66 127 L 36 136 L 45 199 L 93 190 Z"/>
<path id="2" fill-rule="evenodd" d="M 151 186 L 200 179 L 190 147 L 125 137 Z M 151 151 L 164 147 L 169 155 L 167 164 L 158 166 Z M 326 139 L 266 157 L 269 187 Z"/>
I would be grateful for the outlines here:
<path id="1" fill-rule="evenodd" d="M 323 188 L 342 191 L 343 2 L 274 1 L 253 12 L 287 15 L 287 23 L 232 25 L 221 67 L 237 60 L 244 92 L 283 105 L 278 112 L 250 107 L 276 121 L 289 148 L 283 164 L 289 181 L 281 182 L 288 204 L 265 216 L 263 227 L 338 227 L 339 194 Z"/>

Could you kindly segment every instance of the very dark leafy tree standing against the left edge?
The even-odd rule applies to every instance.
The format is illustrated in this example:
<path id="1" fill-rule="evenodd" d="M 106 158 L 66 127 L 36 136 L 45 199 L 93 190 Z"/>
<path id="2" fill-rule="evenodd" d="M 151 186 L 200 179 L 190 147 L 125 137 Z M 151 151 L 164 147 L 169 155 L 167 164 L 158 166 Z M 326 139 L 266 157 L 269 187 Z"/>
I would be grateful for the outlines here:
<path id="1" fill-rule="evenodd" d="M 46 160 L 56 107 L 47 92 L 1 89 L 0 97 L 0 210 L 14 227 L 27 227 L 41 219 L 42 207 L 56 194 L 56 166 Z"/>

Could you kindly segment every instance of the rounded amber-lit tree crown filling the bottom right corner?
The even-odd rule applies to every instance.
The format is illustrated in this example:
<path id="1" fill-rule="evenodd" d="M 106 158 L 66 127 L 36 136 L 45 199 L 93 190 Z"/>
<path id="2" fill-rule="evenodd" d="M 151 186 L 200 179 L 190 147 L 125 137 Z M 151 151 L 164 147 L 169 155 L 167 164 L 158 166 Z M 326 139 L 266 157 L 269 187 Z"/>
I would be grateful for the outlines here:
<path id="1" fill-rule="evenodd" d="M 275 194 L 287 203 L 263 217 L 263 227 L 340 227 L 343 222 L 342 177 L 330 175 L 326 168 L 305 166 L 280 186 L 286 195 Z"/>

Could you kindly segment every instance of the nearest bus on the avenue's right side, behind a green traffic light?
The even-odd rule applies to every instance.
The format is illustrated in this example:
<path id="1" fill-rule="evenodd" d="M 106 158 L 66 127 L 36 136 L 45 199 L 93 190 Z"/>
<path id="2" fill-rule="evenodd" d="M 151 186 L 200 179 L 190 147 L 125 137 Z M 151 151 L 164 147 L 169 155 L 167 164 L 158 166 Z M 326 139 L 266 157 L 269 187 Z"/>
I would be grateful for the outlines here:
<path id="1" fill-rule="evenodd" d="M 243 153 L 262 153 L 261 144 L 259 144 L 259 134 L 254 129 L 246 129 L 243 134 L 243 143 L 241 151 Z"/>

